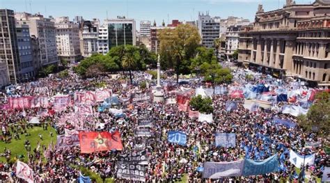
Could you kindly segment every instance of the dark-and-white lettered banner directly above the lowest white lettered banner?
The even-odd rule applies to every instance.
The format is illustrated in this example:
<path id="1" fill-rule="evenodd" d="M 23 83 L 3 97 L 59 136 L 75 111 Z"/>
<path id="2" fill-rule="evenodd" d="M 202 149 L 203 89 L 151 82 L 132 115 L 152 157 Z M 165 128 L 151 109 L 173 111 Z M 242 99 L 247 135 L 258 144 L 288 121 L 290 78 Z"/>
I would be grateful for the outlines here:
<path id="1" fill-rule="evenodd" d="M 148 165 L 148 156 L 146 150 L 131 152 L 128 154 L 120 154 L 118 162 L 120 164 L 139 164 Z"/>

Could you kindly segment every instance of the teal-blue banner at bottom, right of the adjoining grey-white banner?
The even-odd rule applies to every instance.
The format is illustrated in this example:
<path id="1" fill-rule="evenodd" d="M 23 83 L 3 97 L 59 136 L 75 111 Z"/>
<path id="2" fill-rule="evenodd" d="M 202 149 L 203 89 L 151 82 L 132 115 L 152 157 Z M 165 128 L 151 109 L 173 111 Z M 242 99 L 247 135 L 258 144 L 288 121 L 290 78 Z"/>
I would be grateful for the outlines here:
<path id="1" fill-rule="evenodd" d="M 253 161 L 251 159 L 244 159 L 243 176 L 250 175 L 265 175 L 278 171 L 278 157 L 274 154 L 272 157 L 264 161 Z"/>

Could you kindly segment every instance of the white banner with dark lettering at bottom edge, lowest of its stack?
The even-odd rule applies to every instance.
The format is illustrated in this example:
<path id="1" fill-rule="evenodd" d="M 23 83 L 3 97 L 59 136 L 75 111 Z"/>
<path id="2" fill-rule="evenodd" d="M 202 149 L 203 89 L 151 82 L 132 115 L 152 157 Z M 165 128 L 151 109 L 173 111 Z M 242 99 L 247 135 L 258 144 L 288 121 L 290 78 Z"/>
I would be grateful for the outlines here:
<path id="1" fill-rule="evenodd" d="M 120 164 L 117 166 L 117 178 L 146 182 L 146 168 L 144 165 Z"/>

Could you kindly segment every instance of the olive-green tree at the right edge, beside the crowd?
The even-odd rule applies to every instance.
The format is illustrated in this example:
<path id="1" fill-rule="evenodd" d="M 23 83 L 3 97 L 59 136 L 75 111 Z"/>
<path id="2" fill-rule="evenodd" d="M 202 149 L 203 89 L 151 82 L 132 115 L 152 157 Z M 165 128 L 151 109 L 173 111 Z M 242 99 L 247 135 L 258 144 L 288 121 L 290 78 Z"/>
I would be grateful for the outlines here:
<path id="1" fill-rule="evenodd" d="M 330 133 L 330 94 L 318 93 L 306 116 L 298 116 L 299 125 L 308 132 L 319 132 L 321 136 L 329 137 Z"/>

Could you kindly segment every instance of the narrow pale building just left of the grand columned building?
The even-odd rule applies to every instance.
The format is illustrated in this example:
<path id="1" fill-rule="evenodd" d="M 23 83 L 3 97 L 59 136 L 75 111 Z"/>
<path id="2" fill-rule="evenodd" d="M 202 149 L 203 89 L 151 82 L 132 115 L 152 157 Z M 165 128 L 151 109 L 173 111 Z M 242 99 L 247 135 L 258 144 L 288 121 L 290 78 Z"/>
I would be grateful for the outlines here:
<path id="1" fill-rule="evenodd" d="M 225 54 L 230 57 L 238 49 L 239 31 L 241 26 L 229 26 L 226 31 L 226 50 Z"/>

